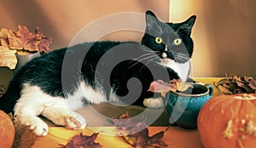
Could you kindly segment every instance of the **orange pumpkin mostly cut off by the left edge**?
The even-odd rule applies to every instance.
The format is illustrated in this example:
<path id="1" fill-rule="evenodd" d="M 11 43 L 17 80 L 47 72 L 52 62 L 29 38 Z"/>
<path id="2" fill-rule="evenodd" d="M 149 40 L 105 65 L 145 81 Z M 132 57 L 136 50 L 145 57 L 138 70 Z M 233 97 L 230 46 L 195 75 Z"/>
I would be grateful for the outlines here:
<path id="1" fill-rule="evenodd" d="M 9 148 L 15 139 L 15 126 L 11 118 L 0 111 L 0 148 Z"/>

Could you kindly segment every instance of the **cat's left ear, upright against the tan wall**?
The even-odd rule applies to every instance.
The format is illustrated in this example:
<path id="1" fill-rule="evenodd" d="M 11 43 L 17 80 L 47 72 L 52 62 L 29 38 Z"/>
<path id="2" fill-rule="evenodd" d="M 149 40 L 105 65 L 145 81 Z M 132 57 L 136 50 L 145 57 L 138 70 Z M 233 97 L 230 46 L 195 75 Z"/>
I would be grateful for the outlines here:
<path id="1" fill-rule="evenodd" d="M 149 30 L 154 30 L 160 26 L 160 20 L 158 20 L 155 14 L 150 10 L 146 12 L 146 26 Z"/>

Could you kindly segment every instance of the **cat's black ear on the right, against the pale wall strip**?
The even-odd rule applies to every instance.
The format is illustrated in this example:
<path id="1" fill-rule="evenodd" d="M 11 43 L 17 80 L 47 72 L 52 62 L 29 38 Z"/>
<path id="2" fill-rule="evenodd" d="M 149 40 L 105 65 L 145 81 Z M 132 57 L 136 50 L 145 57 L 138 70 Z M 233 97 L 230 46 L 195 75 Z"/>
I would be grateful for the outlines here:
<path id="1" fill-rule="evenodd" d="M 186 33 L 187 35 L 190 36 L 192 27 L 195 24 L 195 19 L 196 19 L 196 16 L 192 15 L 191 17 L 189 17 L 188 20 L 184 21 L 183 23 L 180 23 L 177 28 L 177 32 Z"/>

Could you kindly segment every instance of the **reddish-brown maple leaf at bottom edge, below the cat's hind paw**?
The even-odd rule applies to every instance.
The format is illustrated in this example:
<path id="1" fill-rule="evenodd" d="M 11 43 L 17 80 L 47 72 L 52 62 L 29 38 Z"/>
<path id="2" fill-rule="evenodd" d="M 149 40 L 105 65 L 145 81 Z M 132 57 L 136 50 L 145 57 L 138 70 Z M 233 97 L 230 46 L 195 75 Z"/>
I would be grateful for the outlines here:
<path id="1" fill-rule="evenodd" d="M 62 148 L 102 148 L 102 145 L 96 143 L 95 140 L 99 133 L 84 135 L 82 132 L 76 134 L 67 142 L 67 145 L 61 145 Z"/>

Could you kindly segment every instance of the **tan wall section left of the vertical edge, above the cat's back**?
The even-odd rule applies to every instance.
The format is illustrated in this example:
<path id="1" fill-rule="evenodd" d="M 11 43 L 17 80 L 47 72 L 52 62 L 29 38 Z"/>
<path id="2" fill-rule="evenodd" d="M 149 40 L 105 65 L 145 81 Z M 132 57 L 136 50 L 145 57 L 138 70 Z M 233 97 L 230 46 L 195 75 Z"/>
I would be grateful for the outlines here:
<path id="1" fill-rule="evenodd" d="M 32 31 L 39 26 L 46 36 L 54 39 L 50 48 L 55 49 L 67 47 L 81 28 L 103 16 L 122 12 L 145 13 L 148 9 L 153 10 L 160 20 L 168 21 L 169 0 L 0 0 L 0 28 L 15 29 L 22 24 Z M 144 21 L 134 23 L 144 25 Z M 108 27 L 108 23 L 105 25 Z M 117 32 L 105 39 L 139 42 L 142 35 L 135 33 Z M 12 71 L 0 67 L 0 83 L 6 85 L 11 77 Z"/>

